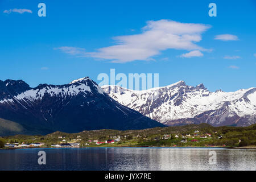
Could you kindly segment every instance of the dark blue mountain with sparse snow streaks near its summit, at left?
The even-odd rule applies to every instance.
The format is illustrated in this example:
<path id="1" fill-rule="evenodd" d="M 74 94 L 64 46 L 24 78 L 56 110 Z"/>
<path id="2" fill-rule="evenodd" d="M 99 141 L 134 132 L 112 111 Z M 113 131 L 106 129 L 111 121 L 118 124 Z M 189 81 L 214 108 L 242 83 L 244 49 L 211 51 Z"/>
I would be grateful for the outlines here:
<path id="1" fill-rule="evenodd" d="M 164 126 L 114 101 L 89 77 L 36 88 L 22 80 L 0 81 L 0 118 L 42 133 Z"/>

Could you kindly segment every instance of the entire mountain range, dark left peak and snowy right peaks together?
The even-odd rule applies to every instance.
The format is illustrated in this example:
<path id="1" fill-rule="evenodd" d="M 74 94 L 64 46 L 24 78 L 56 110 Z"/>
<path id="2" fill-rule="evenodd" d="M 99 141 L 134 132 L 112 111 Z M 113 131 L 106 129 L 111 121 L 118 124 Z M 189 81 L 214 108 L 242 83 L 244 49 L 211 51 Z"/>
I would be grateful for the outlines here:
<path id="1" fill-rule="evenodd" d="M 98 86 L 89 77 L 65 85 L 0 80 L 0 135 L 133 130 L 208 123 L 256 123 L 256 88 L 210 92 L 184 81 L 148 90 Z"/>

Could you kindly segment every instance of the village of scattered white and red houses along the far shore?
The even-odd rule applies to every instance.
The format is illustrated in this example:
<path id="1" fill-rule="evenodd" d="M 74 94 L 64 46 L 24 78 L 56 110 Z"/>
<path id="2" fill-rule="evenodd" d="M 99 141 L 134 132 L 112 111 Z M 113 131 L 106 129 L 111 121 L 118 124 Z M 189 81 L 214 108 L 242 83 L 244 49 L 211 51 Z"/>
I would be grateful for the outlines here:
<path id="1" fill-rule="evenodd" d="M 214 135 L 217 135 L 217 131 L 214 132 Z M 198 143 L 200 141 L 207 141 L 212 139 L 212 134 L 210 133 L 200 133 L 199 130 L 193 131 L 193 133 L 188 134 L 163 134 L 158 137 L 149 138 L 145 136 L 141 136 L 137 134 L 135 136 L 131 135 L 123 135 L 123 136 L 107 136 L 109 138 L 107 140 L 100 140 L 100 139 L 88 139 L 85 140 L 81 135 L 77 135 L 76 138 L 64 137 L 64 136 L 57 136 L 57 142 L 52 143 L 51 145 L 36 142 L 36 143 L 26 143 L 26 142 L 7 142 L 5 143 L 5 147 L 7 148 L 35 148 L 35 147 L 97 147 L 97 146 L 104 146 L 104 147 L 111 147 L 111 146 L 122 146 L 122 144 L 133 142 L 134 144 L 143 143 L 143 142 L 159 142 L 160 140 L 170 140 L 173 141 L 175 144 L 172 144 L 170 147 L 178 147 L 178 146 L 185 146 L 186 143 Z M 222 139 L 222 135 L 217 136 L 218 139 Z M 34 140 L 36 140 L 34 138 Z M 148 145 L 150 146 L 150 145 Z M 189 145 L 188 145 L 189 146 Z M 213 147 L 214 144 L 205 144 L 205 147 Z M 226 146 L 222 144 L 222 146 Z"/>

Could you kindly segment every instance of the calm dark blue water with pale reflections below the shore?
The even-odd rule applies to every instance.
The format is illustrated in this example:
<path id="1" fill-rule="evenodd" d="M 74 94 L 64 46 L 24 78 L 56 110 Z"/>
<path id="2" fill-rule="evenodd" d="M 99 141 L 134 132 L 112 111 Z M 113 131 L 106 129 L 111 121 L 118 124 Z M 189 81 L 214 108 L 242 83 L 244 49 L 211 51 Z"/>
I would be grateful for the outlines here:
<path id="1" fill-rule="evenodd" d="M 38 152 L 46 152 L 46 165 Z M 209 164 L 209 151 L 217 164 Z M 227 148 L 31 148 L 0 150 L 0 170 L 256 170 L 256 150 Z"/>

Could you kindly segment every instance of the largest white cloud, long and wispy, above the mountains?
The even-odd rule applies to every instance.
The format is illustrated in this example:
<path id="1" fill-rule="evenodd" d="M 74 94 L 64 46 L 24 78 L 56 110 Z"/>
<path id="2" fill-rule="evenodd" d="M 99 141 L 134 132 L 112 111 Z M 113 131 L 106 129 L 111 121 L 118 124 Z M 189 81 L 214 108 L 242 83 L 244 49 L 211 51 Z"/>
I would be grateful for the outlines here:
<path id="1" fill-rule="evenodd" d="M 151 20 L 142 28 L 141 34 L 114 37 L 116 41 L 114 46 L 99 48 L 95 52 L 80 52 L 80 56 L 126 63 L 135 60 L 152 60 L 153 56 L 159 55 L 166 49 L 207 51 L 195 43 L 201 41 L 201 34 L 208 28 L 210 26 L 198 23 L 180 23 L 166 19 Z"/>

